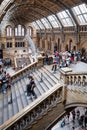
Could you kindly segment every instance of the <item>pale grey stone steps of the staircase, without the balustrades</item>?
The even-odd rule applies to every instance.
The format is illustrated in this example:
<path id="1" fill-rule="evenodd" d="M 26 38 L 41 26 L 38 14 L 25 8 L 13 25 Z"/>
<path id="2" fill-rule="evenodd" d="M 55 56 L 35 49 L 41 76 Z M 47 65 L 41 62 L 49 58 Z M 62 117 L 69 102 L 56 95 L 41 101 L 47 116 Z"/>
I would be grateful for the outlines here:
<path id="1" fill-rule="evenodd" d="M 26 67 L 27 68 L 27 67 Z M 17 72 L 18 73 L 18 72 Z M 41 100 L 45 93 L 52 91 L 55 85 L 59 86 L 58 77 L 52 75 L 45 67 L 40 69 L 33 67 L 32 69 L 21 70 L 20 75 L 14 75 L 12 78 L 12 87 L 6 94 L 0 93 L 0 125 L 9 119 L 12 119 L 15 115 L 21 112 L 24 108 L 27 108 L 30 104 L 37 101 L 40 97 Z M 36 87 L 35 93 L 37 99 L 33 96 L 27 96 L 26 85 L 28 84 L 28 75 L 32 75 L 35 79 Z M 45 95 L 46 96 L 46 95 Z M 51 97 L 53 98 L 53 97 Z M 12 103 L 9 103 L 12 101 Z M 60 96 L 59 96 L 60 101 Z M 64 110 L 64 109 L 63 109 Z"/>

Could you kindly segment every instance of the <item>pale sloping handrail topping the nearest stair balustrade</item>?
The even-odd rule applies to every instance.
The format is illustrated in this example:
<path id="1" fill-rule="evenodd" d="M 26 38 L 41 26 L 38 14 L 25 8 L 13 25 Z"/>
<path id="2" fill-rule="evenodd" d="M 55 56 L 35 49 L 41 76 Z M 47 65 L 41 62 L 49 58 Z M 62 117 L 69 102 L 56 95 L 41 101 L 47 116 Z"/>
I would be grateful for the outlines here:
<path id="1" fill-rule="evenodd" d="M 41 105 L 43 102 L 47 101 L 47 99 L 52 97 L 52 95 L 55 94 L 57 91 L 59 92 L 59 90 L 62 89 L 62 87 L 63 87 L 62 85 L 56 84 L 54 87 L 52 87 L 46 93 L 44 93 L 39 98 L 37 98 L 34 102 L 32 102 L 30 105 L 25 107 L 19 113 L 17 113 L 12 118 L 7 120 L 4 124 L 2 124 L 0 126 L 0 130 L 7 130 L 10 127 L 12 127 L 12 125 L 14 125 L 15 123 L 17 124 L 17 122 L 22 120 L 23 117 L 25 117 L 30 111 L 32 112 L 32 110 L 34 110 L 37 106 Z M 60 102 L 62 102 L 62 96 L 60 98 Z"/>

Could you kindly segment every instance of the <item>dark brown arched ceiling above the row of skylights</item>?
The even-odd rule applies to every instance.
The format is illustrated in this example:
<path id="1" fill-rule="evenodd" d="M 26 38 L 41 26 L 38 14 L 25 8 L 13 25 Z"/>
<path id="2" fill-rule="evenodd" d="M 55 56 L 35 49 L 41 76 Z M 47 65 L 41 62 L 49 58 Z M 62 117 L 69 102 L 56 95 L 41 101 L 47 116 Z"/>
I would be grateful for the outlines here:
<path id="1" fill-rule="evenodd" d="M 87 0 L 0 0 L 0 7 L 3 1 L 8 1 L 8 4 L 0 10 L 0 21 L 6 15 L 7 20 L 15 24 L 31 23 L 83 2 L 87 3 Z"/>

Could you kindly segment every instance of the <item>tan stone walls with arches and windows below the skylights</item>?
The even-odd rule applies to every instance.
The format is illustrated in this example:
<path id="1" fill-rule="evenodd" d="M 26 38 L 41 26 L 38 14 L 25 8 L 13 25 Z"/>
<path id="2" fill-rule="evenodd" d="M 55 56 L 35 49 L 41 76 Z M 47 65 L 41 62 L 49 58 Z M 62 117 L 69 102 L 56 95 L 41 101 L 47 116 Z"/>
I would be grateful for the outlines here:
<path id="1" fill-rule="evenodd" d="M 51 54 L 53 54 L 54 50 L 58 50 L 58 52 L 80 50 L 87 55 L 86 31 L 79 32 L 80 38 L 77 42 L 74 31 L 71 32 L 67 30 L 60 36 L 58 30 L 55 32 L 55 29 L 53 34 L 50 33 L 49 30 L 47 30 L 45 34 L 45 32 L 41 33 L 39 30 L 36 31 L 33 28 L 22 28 L 21 32 L 17 30 L 17 28 L 15 28 L 15 30 L 11 27 L 6 27 L 3 30 L 3 36 L 0 38 L 0 48 L 3 49 L 5 54 L 10 52 L 11 56 L 19 55 L 20 49 L 23 53 L 27 53 L 28 42 L 24 40 L 24 36 L 28 33 L 31 35 L 37 48 L 42 48 L 43 51 L 48 51 Z M 46 35 L 46 37 L 44 35 Z M 8 49 L 10 50 L 9 52 Z M 3 55 L 3 58 L 5 57 L 6 55 Z"/>

